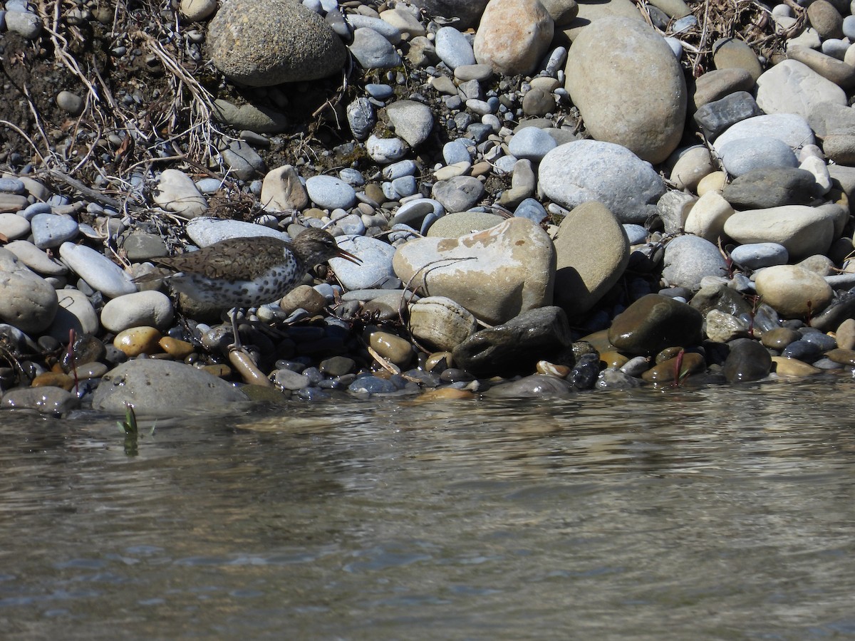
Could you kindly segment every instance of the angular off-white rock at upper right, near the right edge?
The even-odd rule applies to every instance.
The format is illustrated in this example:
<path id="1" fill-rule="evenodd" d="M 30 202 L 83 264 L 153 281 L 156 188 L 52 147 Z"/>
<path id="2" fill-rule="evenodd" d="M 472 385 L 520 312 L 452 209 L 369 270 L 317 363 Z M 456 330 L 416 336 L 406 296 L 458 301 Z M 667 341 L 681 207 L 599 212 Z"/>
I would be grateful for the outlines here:
<path id="1" fill-rule="evenodd" d="M 767 114 L 798 114 L 807 119 L 819 103 L 846 106 L 846 91 L 805 63 L 785 60 L 757 79 L 757 103 Z"/>

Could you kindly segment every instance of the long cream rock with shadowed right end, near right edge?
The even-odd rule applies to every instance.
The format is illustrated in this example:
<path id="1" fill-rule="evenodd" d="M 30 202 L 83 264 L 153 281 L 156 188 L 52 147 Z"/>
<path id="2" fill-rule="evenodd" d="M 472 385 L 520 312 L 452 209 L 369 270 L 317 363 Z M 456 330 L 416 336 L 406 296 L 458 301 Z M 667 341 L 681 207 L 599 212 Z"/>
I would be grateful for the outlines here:
<path id="1" fill-rule="evenodd" d="M 724 232 L 740 244 L 777 243 L 793 260 L 825 254 L 834 240 L 836 216 L 828 208 L 784 205 L 738 211 L 724 223 Z"/>

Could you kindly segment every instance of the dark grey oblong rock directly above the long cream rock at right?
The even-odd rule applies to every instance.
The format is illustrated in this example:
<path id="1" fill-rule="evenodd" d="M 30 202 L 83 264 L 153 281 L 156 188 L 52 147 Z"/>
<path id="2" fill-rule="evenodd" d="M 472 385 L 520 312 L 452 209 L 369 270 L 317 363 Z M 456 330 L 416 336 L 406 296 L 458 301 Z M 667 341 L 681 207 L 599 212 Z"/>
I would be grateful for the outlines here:
<path id="1" fill-rule="evenodd" d="M 734 179 L 722 197 L 735 208 L 766 209 L 811 203 L 817 188 L 814 175 L 794 167 L 752 169 Z"/>

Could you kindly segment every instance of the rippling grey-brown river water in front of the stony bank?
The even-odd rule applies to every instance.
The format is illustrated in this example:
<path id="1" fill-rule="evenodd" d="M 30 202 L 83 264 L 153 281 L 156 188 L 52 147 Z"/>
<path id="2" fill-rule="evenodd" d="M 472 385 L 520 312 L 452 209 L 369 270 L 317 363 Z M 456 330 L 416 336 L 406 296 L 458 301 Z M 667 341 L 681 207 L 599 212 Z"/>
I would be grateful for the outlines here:
<path id="1" fill-rule="evenodd" d="M 855 638 L 855 380 L 0 415 L 0 638 Z"/>

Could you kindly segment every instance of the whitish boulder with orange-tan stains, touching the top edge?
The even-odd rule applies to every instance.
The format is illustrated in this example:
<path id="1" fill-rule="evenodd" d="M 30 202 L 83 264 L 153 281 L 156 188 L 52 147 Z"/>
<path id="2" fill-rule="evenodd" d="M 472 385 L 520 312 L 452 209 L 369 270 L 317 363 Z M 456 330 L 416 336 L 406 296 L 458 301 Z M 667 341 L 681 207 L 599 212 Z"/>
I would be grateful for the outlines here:
<path id="1" fill-rule="evenodd" d="M 531 74 L 554 28 L 539 0 L 491 0 L 475 34 L 475 60 L 497 74 Z"/>

